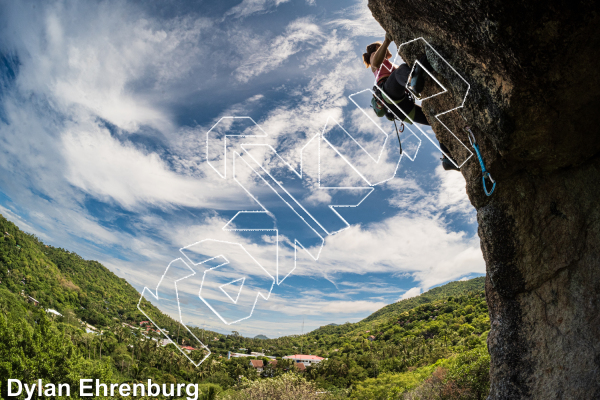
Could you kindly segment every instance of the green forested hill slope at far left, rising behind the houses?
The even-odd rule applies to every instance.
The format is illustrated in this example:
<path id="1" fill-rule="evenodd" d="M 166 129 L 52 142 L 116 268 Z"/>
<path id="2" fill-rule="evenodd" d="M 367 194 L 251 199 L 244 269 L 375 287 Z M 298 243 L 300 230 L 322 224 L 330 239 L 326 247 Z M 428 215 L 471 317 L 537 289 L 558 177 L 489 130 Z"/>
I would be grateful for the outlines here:
<path id="1" fill-rule="evenodd" d="M 125 279 L 97 261 L 84 260 L 68 250 L 42 243 L 2 215 L 0 287 L 25 298 L 30 296 L 44 309 L 73 313 L 92 326 L 147 320 L 137 309 L 140 293 Z M 150 302 L 144 300 L 142 306 L 158 319 L 161 327 L 171 332 L 177 329 L 177 322 Z M 182 331 L 181 338 L 186 335 Z"/>

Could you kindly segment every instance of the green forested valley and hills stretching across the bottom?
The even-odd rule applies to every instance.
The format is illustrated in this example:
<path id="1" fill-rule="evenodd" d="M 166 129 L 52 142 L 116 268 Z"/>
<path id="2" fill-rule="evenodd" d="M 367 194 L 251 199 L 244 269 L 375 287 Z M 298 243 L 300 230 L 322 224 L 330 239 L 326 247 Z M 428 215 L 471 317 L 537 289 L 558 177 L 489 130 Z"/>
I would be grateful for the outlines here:
<path id="1" fill-rule="evenodd" d="M 452 282 L 390 304 L 360 322 L 330 324 L 304 335 L 267 339 L 206 331 L 218 340 L 208 343 L 212 355 L 196 368 L 172 344 L 160 346 L 158 333 L 139 328 L 146 319 L 136 308 L 140 294 L 125 280 L 96 261 L 45 245 L 1 216 L 0 229 L 0 398 L 6 398 L 7 378 L 65 382 L 74 388 L 81 378 L 196 382 L 202 399 L 243 399 L 263 392 L 266 397 L 257 398 L 272 398 L 292 384 L 298 393 L 325 391 L 319 399 L 326 400 L 426 399 L 423 393 L 431 391 L 460 393 L 448 399 L 483 399 L 487 393 L 489 318 L 483 278 Z M 176 332 L 177 322 L 149 302 L 143 307 L 161 327 Z M 63 316 L 46 313 L 49 308 Z M 97 330 L 86 333 L 83 322 Z M 186 335 L 183 329 L 175 339 L 193 344 Z M 227 359 L 229 351 L 240 348 L 276 356 L 277 365 L 265 358 L 258 373 L 248 358 Z M 301 352 L 326 360 L 301 371 L 281 359 Z M 198 362 L 205 354 L 192 350 L 187 357 Z"/>

